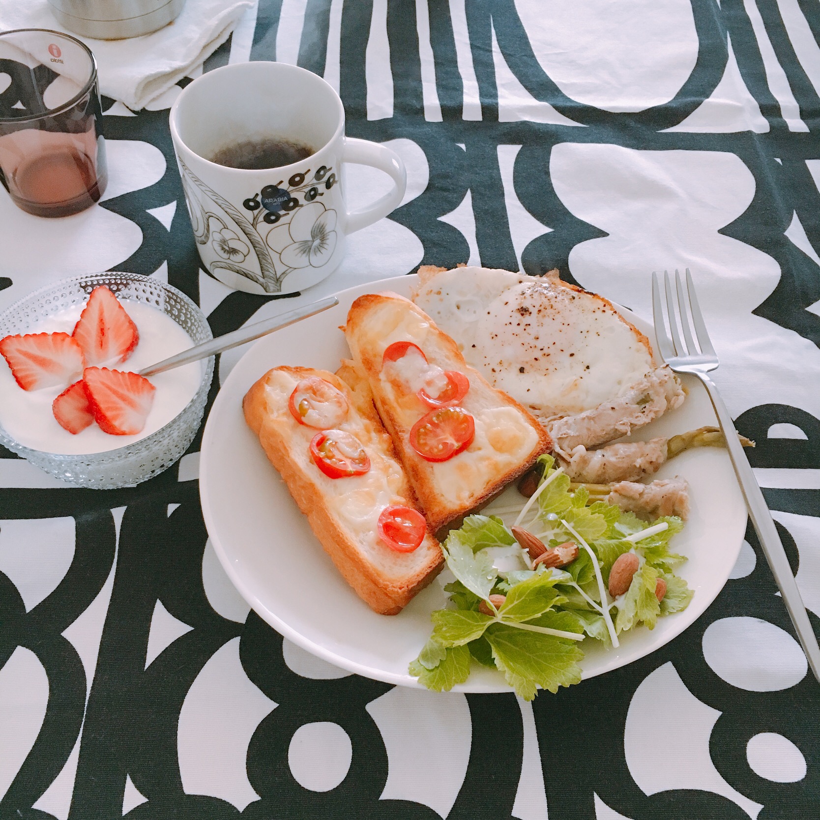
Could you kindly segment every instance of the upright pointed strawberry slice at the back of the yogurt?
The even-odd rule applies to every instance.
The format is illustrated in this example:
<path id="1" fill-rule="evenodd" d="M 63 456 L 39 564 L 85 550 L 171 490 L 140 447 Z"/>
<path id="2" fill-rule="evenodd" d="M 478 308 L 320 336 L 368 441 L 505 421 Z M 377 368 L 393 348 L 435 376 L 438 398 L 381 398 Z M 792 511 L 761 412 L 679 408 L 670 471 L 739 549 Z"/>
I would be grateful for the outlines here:
<path id="1" fill-rule="evenodd" d="M 137 326 L 105 285 L 91 291 L 72 335 L 88 367 L 125 362 L 139 342 Z"/>

